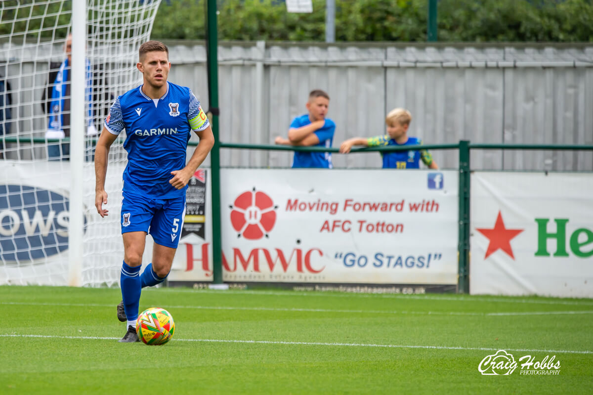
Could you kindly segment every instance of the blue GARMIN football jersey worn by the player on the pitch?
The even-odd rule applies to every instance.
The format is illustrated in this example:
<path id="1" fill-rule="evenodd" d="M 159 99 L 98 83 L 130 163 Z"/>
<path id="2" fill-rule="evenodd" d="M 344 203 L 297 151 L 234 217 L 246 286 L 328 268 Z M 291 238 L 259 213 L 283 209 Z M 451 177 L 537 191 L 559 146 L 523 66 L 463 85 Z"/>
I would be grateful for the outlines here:
<path id="1" fill-rule="evenodd" d="M 169 183 L 171 171 L 186 165 L 191 130 L 208 126 L 200 102 L 187 87 L 167 82 L 167 93 L 160 99 L 146 96 L 142 86 L 119 96 L 105 127 L 114 135 L 126 129 L 123 191 L 157 199 L 184 196 L 186 188 L 176 189 Z"/>

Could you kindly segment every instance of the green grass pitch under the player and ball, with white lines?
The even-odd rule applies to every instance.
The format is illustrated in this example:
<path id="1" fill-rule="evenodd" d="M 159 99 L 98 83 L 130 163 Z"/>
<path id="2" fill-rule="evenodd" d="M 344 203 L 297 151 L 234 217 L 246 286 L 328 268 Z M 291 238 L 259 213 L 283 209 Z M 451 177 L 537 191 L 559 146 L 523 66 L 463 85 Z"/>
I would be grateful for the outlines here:
<path id="1" fill-rule="evenodd" d="M 593 301 L 144 289 L 176 323 L 117 339 L 116 288 L 0 286 L 0 394 L 591 394 Z M 555 355 L 559 374 L 482 375 Z"/>

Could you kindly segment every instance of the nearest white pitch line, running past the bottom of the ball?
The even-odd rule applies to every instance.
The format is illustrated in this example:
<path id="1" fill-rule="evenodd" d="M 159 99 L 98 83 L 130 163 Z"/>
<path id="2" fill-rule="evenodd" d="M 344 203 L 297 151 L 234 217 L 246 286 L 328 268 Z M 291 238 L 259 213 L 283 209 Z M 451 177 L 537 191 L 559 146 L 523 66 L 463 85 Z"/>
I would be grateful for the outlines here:
<path id="1" fill-rule="evenodd" d="M 40 337 L 43 339 L 81 339 L 81 340 L 119 340 L 119 337 L 103 336 L 52 336 L 52 335 L 0 335 L 0 337 Z M 283 342 L 274 340 L 225 340 L 225 339 L 174 339 L 174 342 L 203 342 L 203 343 L 243 343 L 243 344 L 266 344 L 266 345 L 289 345 L 289 346 L 333 346 L 333 347 L 369 347 L 369 348 L 420 348 L 436 350 L 461 350 L 461 351 L 506 351 L 521 352 L 549 352 L 565 354 L 593 354 L 588 350 L 546 350 L 527 348 L 488 348 L 488 347 L 459 347 L 459 346 L 420 346 L 420 345 L 397 345 L 397 344 L 365 344 L 365 343 L 324 343 L 324 342 Z"/>

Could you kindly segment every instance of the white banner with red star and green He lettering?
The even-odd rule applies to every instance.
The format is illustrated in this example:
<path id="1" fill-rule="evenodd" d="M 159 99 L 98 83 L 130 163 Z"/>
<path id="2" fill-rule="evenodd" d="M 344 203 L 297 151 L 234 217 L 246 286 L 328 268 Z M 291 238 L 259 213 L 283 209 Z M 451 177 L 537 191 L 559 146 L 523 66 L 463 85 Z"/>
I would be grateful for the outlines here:
<path id="1" fill-rule="evenodd" d="M 593 297 L 593 174 L 471 174 L 470 293 Z"/>

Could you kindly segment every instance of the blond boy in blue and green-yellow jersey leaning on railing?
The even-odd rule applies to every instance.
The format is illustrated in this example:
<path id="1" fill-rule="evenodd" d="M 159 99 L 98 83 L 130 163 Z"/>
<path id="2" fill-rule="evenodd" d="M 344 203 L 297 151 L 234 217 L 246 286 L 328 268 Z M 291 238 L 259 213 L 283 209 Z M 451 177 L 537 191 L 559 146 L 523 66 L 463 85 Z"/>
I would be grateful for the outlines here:
<path id="1" fill-rule="evenodd" d="M 412 114 L 405 109 L 393 109 L 385 117 L 387 135 L 369 138 L 355 137 L 347 139 L 340 145 L 340 152 L 347 154 L 353 145 L 385 146 L 385 145 L 419 145 L 422 140 L 409 137 L 407 129 L 412 122 Z M 419 151 L 393 151 L 381 152 L 383 168 L 420 168 L 420 160 L 429 168 L 438 169 L 432 160 L 432 155 L 426 149 Z"/>

